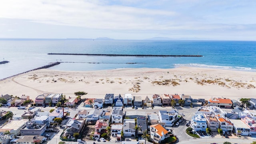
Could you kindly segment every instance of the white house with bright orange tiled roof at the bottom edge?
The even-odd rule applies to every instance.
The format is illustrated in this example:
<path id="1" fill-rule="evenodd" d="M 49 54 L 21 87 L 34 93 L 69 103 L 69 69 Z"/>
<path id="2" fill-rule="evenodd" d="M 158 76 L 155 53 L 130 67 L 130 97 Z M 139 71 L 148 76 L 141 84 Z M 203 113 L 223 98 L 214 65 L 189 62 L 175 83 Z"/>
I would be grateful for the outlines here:
<path id="1" fill-rule="evenodd" d="M 154 124 L 150 126 L 150 138 L 154 142 L 160 144 L 162 140 L 170 137 L 168 131 L 160 124 Z"/>

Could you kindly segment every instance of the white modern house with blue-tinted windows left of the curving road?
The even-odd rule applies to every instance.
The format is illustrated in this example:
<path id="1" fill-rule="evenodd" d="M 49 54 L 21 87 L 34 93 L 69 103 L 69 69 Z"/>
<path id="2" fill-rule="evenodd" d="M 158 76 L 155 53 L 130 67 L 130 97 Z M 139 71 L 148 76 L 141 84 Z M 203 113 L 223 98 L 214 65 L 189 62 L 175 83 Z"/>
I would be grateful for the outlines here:
<path id="1" fill-rule="evenodd" d="M 178 119 L 178 112 L 176 110 L 171 110 L 170 112 L 159 110 L 158 116 L 160 122 L 165 123 L 165 126 L 173 126 L 174 122 Z"/>

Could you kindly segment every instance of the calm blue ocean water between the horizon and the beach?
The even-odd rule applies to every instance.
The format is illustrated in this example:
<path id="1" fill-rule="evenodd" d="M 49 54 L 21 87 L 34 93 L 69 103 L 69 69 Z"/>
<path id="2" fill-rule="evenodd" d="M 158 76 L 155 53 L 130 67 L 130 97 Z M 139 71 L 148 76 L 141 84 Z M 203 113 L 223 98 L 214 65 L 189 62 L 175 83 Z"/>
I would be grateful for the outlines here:
<path id="1" fill-rule="evenodd" d="M 167 54 L 203 55 L 203 57 L 65 56 L 47 55 L 47 53 Z M 174 68 L 179 66 L 194 66 L 256 72 L 256 42 L 0 40 L 0 61 L 2 60 L 8 60 L 9 63 L 0 64 L 0 79 L 56 61 L 80 63 L 61 63 L 50 69 L 84 71 L 114 68 Z"/>

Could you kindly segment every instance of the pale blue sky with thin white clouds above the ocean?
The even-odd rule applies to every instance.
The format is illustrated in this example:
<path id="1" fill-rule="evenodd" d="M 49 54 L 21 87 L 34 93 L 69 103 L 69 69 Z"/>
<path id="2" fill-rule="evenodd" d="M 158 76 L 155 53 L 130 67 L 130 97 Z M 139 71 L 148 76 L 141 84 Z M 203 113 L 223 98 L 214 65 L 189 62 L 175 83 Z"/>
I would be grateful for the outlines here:
<path id="1" fill-rule="evenodd" d="M 0 38 L 256 40 L 254 0 L 1 0 Z"/>

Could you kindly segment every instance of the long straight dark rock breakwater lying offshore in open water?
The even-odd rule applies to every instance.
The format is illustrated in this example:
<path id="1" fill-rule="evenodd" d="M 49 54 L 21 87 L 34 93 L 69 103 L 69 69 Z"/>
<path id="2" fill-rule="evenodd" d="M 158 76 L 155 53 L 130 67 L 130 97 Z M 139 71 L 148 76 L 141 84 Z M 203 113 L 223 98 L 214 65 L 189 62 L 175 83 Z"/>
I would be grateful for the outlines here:
<path id="1" fill-rule="evenodd" d="M 137 57 L 202 57 L 202 55 L 157 55 L 157 54 L 68 54 L 48 53 L 53 55 L 84 55 L 84 56 L 137 56 Z"/>

